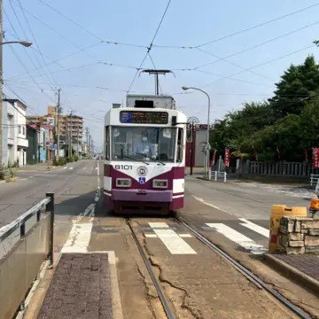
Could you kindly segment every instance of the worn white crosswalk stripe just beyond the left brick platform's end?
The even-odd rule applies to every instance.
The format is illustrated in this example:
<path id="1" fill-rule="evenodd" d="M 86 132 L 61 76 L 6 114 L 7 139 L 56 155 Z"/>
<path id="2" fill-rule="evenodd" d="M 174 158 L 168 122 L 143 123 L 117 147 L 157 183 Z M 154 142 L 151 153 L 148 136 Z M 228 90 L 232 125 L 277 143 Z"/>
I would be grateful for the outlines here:
<path id="1" fill-rule="evenodd" d="M 86 253 L 88 252 L 89 239 L 93 224 L 74 223 L 72 230 L 67 237 L 66 244 L 61 253 Z"/>

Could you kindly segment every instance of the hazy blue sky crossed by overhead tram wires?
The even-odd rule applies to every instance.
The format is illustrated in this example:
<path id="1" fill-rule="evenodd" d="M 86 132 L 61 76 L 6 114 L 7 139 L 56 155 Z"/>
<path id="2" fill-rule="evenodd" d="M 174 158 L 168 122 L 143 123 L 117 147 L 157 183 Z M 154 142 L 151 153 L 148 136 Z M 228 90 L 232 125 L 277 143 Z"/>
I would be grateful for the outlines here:
<path id="1" fill-rule="evenodd" d="M 271 97 L 274 83 L 290 64 L 302 63 L 309 54 L 317 57 L 319 48 L 312 46 L 319 39 L 315 4 L 315 0 L 276 4 L 172 0 L 151 51 L 157 68 L 175 70 L 175 77 L 160 77 L 162 91 L 173 94 L 184 113 L 203 122 L 206 97 L 199 92 L 181 94 L 183 85 L 205 87 L 212 100 L 212 121 L 245 102 Z M 315 6 L 238 33 L 311 5 Z M 136 74 L 134 67 L 141 64 L 166 6 L 167 0 L 4 0 L 5 39 L 34 43 L 27 49 L 4 46 L 4 93 L 25 101 L 28 113 L 43 114 L 48 105 L 56 104 L 55 89 L 62 88 L 64 113 L 72 109 L 83 116 L 101 148 L 104 114 L 125 97 Z M 218 40 L 227 35 L 232 36 Z M 144 67 L 152 68 L 149 57 Z M 131 90 L 153 93 L 153 77 L 141 74 Z"/>

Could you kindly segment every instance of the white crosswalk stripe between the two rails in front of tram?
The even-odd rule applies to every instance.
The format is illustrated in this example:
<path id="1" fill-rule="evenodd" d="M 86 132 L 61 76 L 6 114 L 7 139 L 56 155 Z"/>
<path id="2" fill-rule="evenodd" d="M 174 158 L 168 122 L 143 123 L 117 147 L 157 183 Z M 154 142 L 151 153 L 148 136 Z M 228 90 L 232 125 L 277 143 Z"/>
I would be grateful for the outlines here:
<path id="1" fill-rule="evenodd" d="M 170 230 L 166 222 L 149 222 L 154 233 L 159 237 L 172 254 L 197 254 L 183 238 L 179 237 L 174 230 Z M 160 228 L 160 229 L 159 229 Z M 167 228 L 167 230 L 162 230 Z"/>

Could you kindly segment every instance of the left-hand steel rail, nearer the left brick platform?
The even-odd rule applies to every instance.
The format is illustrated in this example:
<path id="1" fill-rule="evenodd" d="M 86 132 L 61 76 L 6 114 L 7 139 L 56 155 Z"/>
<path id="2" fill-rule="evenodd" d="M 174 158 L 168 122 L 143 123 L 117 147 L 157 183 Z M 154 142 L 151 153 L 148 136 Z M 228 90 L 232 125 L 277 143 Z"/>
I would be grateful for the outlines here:
<path id="1" fill-rule="evenodd" d="M 173 314 L 172 310 L 170 309 L 170 307 L 168 305 L 167 299 L 165 298 L 164 293 L 163 293 L 162 289 L 160 288 L 159 282 L 156 279 L 154 272 L 152 271 L 152 265 L 151 265 L 150 261 L 147 259 L 146 254 L 144 253 L 143 247 L 140 244 L 140 242 L 138 241 L 138 238 L 136 236 L 136 232 L 135 232 L 135 230 L 133 230 L 133 227 L 132 227 L 129 219 L 127 219 L 127 224 L 128 224 L 129 230 L 131 230 L 133 238 L 136 242 L 136 246 L 137 246 L 137 248 L 138 248 L 139 252 L 141 253 L 141 256 L 144 260 L 145 266 L 146 266 L 146 268 L 147 268 L 147 270 L 152 278 L 152 282 L 155 286 L 156 292 L 159 295 L 159 300 L 164 307 L 164 310 L 167 314 L 168 319 L 175 319 L 175 315 Z"/>

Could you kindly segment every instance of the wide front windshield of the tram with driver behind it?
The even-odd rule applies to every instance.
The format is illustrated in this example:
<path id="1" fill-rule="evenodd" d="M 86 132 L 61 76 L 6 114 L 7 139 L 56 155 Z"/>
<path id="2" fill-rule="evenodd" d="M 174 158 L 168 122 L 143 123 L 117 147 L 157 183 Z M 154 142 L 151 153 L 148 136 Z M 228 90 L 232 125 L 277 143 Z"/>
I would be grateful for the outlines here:
<path id="1" fill-rule="evenodd" d="M 112 128 L 113 160 L 174 162 L 176 128 Z"/>

